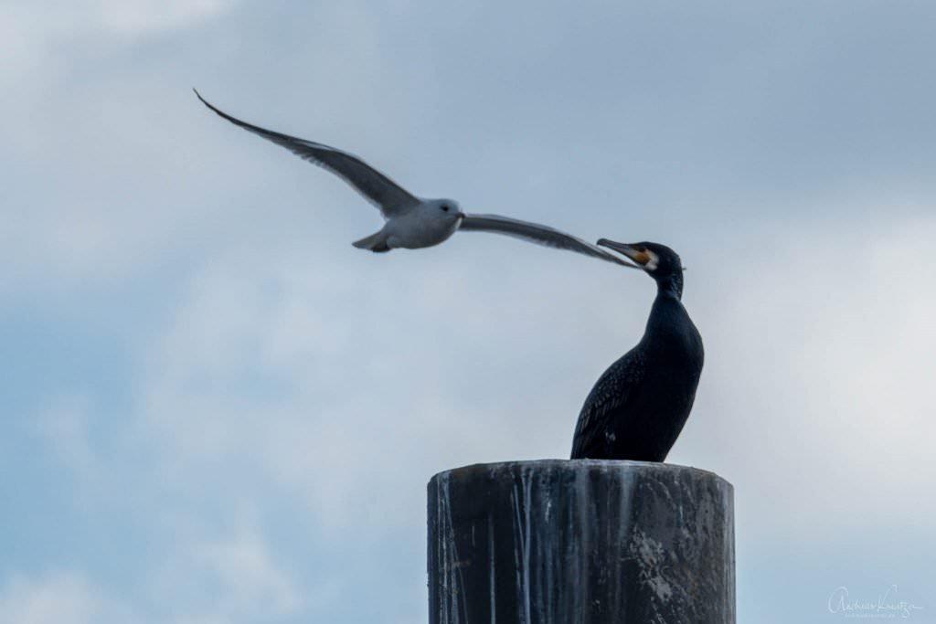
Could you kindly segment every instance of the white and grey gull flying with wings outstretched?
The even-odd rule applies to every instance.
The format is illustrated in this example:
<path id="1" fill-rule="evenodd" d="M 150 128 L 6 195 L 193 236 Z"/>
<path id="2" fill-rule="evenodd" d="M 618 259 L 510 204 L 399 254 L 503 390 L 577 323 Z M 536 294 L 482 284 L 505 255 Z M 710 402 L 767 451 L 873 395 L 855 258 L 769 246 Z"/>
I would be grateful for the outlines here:
<path id="1" fill-rule="evenodd" d="M 240 125 L 245 130 L 285 147 L 303 160 L 328 169 L 354 187 L 358 193 L 380 210 L 386 223 L 371 236 L 352 243 L 359 249 L 388 252 L 398 247 L 405 249 L 431 247 L 443 242 L 456 230 L 461 229 L 505 234 L 556 249 L 567 249 L 579 254 L 591 255 L 624 267 L 637 268 L 636 265 L 609 254 L 591 243 L 546 225 L 511 219 L 499 214 L 466 214 L 459 209 L 458 202 L 452 199 L 417 197 L 358 156 L 328 145 L 290 137 L 241 122 L 223 110 L 214 108 L 196 89 L 193 91 L 202 104 L 227 119 L 228 122 Z"/>

